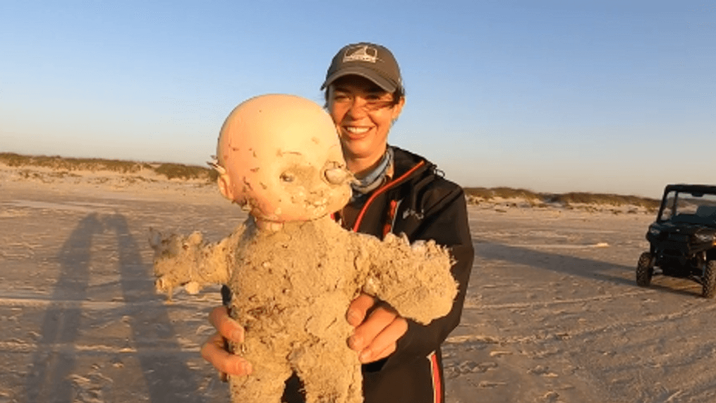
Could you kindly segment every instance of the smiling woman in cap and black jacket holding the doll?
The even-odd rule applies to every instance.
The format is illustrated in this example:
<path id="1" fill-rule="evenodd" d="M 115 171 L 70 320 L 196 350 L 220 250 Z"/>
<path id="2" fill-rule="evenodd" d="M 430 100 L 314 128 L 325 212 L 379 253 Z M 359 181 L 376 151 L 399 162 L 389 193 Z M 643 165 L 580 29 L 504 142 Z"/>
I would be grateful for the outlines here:
<path id="1" fill-rule="evenodd" d="M 465 194 L 425 158 L 387 144 L 405 105 L 400 68 L 390 50 L 370 43 L 347 45 L 333 58 L 321 89 L 347 167 L 360 182 L 337 220 L 344 228 L 379 238 L 405 233 L 411 242 L 432 239 L 448 246 L 459 283 L 450 314 L 427 326 L 402 318 L 367 294 L 352 301 L 346 319 L 355 329 L 347 342 L 363 363 L 365 402 L 443 402 L 440 344 L 460 322 L 474 256 Z M 217 333 L 204 344 L 204 358 L 223 373 L 251 373 L 251 363 L 224 349 L 225 338 L 243 341 L 241 326 L 225 307 L 214 309 L 210 321 Z M 284 398 L 302 402 L 298 391 L 298 380 L 289 379 Z"/>

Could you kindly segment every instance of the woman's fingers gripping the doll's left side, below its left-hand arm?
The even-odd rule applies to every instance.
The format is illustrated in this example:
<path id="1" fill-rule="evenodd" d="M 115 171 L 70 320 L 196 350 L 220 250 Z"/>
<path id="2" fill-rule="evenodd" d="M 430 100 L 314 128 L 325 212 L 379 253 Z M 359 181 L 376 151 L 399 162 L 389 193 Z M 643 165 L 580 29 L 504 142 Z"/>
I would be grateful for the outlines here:
<path id="1" fill-rule="evenodd" d="M 209 322 L 216 328 L 216 334 L 211 336 L 201 346 L 201 356 L 218 369 L 221 379 L 226 381 L 226 374 L 251 374 L 251 363 L 227 351 L 226 340 L 243 342 L 243 328 L 230 316 L 226 306 L 217 306 L 209 314 Z"/>

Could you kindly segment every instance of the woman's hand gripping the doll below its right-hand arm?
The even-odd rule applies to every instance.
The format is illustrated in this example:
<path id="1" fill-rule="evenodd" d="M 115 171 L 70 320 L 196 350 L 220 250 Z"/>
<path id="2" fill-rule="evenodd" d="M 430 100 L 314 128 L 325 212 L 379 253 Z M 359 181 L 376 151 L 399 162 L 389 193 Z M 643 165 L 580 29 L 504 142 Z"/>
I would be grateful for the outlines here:
<path id="1" fill-rule="evenodd" d="M 407 331 L 407 321 L 395 309 L 364 293 L 351 302 L 346 319 L 355 327 L 348 346 L 359 352 L 358 359 L 362 364 L 392 354 L 398 339 Z"/>

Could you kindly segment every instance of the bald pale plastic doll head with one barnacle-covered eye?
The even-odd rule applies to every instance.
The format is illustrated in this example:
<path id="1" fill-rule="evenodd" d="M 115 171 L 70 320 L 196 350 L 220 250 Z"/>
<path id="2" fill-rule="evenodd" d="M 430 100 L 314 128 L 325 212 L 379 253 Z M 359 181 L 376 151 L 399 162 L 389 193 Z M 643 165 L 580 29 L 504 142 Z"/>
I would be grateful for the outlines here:
<path id="1" fill-rule="evenodd" d="M 216 155 L 221 194 L 257 220 L 314 220 L 351 195 L 336 126 L 309 99 L 268 94 L 241 103 L 221 127 Z"/>

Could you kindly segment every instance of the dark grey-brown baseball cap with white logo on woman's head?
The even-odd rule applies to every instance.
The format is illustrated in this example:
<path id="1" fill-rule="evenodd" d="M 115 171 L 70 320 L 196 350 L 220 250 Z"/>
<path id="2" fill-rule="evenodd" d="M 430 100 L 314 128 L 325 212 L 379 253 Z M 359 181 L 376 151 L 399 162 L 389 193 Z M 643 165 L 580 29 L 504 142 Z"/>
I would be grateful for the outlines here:
<path id="1" fill-rule="evenodd" d="M 402 88 L 398 62 L 390 50 L 381 45 L 360 42 L 344 46 L 333 57 L 321 89 L 352 74 L 371 80 L 387 92 Z"/>

